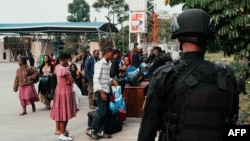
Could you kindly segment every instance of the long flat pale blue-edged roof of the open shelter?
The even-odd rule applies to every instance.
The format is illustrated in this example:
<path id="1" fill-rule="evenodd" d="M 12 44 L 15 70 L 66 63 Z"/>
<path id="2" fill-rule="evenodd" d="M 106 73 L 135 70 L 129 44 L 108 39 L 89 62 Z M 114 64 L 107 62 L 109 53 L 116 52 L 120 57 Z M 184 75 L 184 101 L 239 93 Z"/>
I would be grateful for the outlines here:
<path id="1" fill-rule="evenodd" d="M 111 24 L 112 32 L 119 32 Z M 53 22 L 0 24 L 0 33 L 97 33 L 109 32 L 109 23 L 104 22 Z"/>

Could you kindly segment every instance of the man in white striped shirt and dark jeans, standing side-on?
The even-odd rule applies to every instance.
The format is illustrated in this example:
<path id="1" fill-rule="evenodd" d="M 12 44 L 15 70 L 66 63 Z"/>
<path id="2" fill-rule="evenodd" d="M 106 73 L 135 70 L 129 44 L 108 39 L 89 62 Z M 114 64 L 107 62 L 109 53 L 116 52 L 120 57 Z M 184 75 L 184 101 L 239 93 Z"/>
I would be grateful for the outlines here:
<path id="1" fill-rule="evenodd" d="M 87 129 L 87 135 L 98 140 L 99 138 L 111 138 L 111 135 L 105 133 L 105 124 L 109 118 L 109 94 L 110 85 L 118 86 L 118 83 L 110 78 L 111 59 L 113 58 L 113 49 L 105 48 L 103 58 L 95 64 L 94 69 L 94 92 L 97 99 L 97 115 L 93 119 L 90 128 Z"/>

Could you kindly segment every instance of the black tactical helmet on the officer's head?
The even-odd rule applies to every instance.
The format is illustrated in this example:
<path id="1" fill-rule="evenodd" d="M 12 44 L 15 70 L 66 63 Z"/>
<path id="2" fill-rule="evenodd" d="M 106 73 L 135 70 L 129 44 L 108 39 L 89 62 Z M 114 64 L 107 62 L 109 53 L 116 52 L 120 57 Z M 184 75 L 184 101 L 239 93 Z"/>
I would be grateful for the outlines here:
<path id="1" fill-rule="evenodd" d="M 172 39 L 180 35 L 201 34 L 214 38 L 215 23 L 207 12 L 201 9 L 188 9 L 174 18 L 171 25 Z"/>

